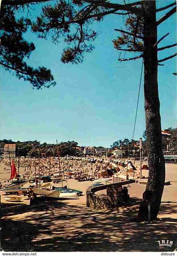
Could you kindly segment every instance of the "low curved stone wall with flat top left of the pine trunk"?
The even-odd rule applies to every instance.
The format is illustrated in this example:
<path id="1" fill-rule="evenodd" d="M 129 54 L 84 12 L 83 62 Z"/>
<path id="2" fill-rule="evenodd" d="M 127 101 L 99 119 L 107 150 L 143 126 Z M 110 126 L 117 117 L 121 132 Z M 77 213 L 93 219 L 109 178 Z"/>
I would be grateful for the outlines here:
<path id="1" fill-rule="evenodd" d="M 113 184 L 89 187 L 86 191 L 87 207 L 102 210 L 117 207 L 123 202 L 122 185 L 134 183 L 135 180 L 125 180 Z M 107 189 L 107 195 L 97 195 L 95 192 Z"/>

